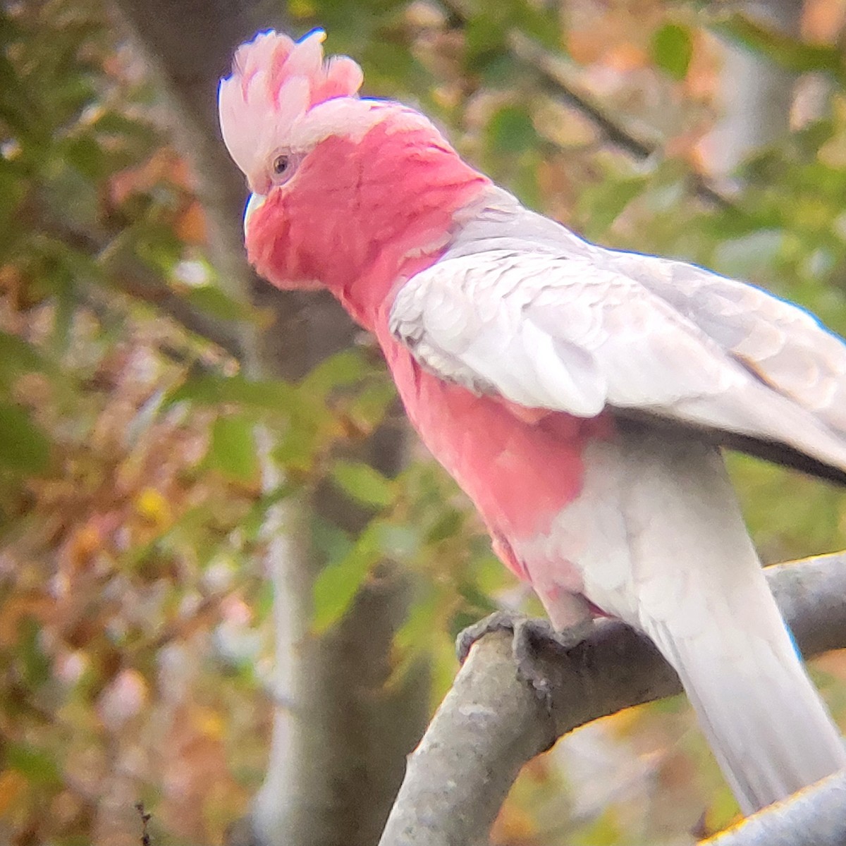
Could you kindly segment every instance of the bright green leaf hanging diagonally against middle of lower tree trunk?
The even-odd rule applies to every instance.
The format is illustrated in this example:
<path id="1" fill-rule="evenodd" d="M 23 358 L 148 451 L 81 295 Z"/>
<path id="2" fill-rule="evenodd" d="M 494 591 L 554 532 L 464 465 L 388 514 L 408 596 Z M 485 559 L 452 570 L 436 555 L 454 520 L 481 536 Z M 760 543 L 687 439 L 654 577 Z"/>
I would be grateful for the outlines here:
<path id="1" fill-rule="evenodd" d="M 321 570 L 312 589 L 311 629 L 315 634 L 331 629 L 347 613 L 381 556 L 375 524 L 371 523 L 352 547 Z"/>

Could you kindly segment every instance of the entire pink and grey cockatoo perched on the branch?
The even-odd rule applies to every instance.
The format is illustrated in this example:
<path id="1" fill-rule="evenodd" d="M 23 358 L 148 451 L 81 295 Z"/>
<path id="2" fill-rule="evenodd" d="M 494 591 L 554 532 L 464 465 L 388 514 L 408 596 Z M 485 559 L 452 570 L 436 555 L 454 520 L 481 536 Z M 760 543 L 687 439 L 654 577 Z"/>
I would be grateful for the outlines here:
<path id="1" fill-rule="evenodd" d="M 846 346 L 759 288 L 528 211 L 321 31 L 219 93 L 251 263 L 376 335 L 409 420 L 558 630 L 597 613 L 678 671 L 750 812 L 846 766 L 721 446 L 846 482 Z"/>

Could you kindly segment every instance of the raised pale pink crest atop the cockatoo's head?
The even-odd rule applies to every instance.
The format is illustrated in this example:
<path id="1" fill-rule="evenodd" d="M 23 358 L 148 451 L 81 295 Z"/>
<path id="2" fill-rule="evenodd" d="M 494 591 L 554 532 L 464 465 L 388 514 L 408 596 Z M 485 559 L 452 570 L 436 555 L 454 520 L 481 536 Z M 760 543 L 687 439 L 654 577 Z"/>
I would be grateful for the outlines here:
<path id="1" fill-rule="evenodd" d="M 235 52 L 232 75 L 218 91 L 223 141 L 248 178 L 284 146 L 294 122 L 312 106 L 358 96 L 364 75 L 353 59 L 324 60 L 323 30 L 299 41 L 273 30 L 260 32 Z"/>

